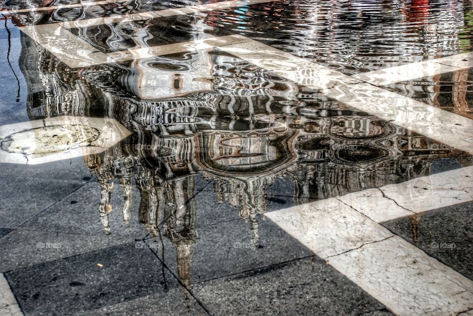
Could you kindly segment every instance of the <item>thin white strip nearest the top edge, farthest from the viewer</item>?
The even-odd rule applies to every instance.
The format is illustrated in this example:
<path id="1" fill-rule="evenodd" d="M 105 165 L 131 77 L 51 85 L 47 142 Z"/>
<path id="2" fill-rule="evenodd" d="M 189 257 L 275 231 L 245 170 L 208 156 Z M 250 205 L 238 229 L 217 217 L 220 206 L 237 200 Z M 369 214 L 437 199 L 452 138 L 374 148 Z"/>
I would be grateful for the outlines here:
<path id="1" fill-rule="evenodd" d="M 211 11 L 218 10 L 230 7 L 245 6 L 256 3 L 271 2 L 277 0 L 231 0 L 231 1 L 221 1 L 208 4 L 192 5 L 181 8 L 173 8 L 167 10 L 159 11 L 149 11 L 149 12 L 140 12 L 133 14 L 124 14 L 124 15 L 113 15 L 104 18 L 93 18 L 86 20 L 76 20 L 76 21 L 67 21 L 59 22 L 59 24 L 66 29 L 80 28 L 80 27 L 90 27 L 97 26 L 101 24 L 110 24 L 110 23 L 123 23 L 129 21 L 141 21 L 155 19 L 159 17 L 168 17 L 174 15 L 184 15 L 184 14 L 193 14 L 202 11 Z"/>

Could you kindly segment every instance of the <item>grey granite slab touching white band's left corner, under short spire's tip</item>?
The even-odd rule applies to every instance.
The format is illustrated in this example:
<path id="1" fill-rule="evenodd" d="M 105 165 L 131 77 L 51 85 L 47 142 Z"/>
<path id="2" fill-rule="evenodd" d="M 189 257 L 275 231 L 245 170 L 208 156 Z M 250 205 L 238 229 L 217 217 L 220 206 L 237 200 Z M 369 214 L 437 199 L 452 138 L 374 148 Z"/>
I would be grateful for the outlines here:
<path id="1" fill-rule="evenodd" d="M 191 259 L 191 284 L 312 255 L 308 249 L 277 225 L 262 217 L 259 221 L 259 244 L 252 243 L 250 224 L 242 219 L 216 224 L 200 224 Z M 147 240 L 159 257 L 161 243 Z M 176 247 L 163 237 L 165 263 L 178 275 Z M 180 265 L 185 264 L 182 260 Z"/>

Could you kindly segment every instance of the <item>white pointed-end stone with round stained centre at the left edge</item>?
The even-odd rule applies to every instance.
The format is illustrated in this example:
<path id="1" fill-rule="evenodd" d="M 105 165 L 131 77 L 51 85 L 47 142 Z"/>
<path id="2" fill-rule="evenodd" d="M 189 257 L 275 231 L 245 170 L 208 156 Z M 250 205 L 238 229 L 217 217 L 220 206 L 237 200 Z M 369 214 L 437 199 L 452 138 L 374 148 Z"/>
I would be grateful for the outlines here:
<path id="1" fill-rule="evenodd" d="M 98 154 L 130 135 L 114 119 L 60 116 L 0 126 L 0 162 L 38 164 Z"/>

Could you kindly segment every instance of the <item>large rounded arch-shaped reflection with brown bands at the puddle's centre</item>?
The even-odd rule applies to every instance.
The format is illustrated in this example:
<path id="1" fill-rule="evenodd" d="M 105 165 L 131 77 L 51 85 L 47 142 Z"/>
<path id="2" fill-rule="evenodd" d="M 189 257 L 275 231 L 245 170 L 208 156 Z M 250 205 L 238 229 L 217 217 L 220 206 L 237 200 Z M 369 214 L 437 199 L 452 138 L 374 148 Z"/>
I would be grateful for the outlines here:
<path id="1" fill-rule="evenodd" d="M 200 134 L 197 163 L 204 170 L 223 175 L 274 172 L 295 159 L 294 134 Z"/>

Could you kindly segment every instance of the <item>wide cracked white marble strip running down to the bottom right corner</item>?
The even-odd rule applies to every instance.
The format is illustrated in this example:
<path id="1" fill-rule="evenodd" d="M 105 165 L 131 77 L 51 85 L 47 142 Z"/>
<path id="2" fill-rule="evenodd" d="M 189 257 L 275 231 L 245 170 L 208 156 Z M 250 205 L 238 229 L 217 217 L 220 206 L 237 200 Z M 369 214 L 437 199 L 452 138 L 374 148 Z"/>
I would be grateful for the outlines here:
<path id="1" fill-rule="evenodd" d="M 337 198 L 265 214 L 396 315 L 457 315 L 473 282 Z"/>

